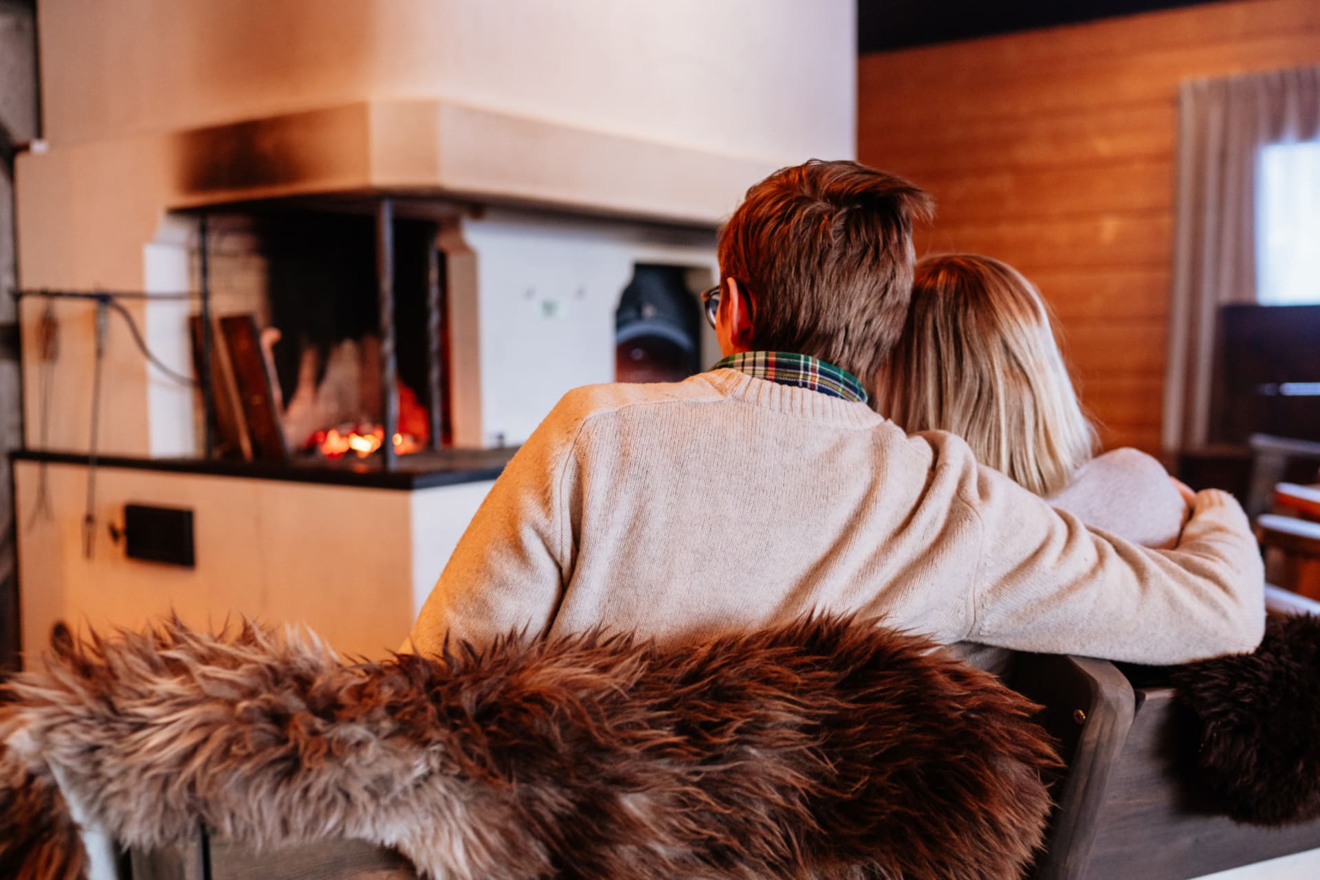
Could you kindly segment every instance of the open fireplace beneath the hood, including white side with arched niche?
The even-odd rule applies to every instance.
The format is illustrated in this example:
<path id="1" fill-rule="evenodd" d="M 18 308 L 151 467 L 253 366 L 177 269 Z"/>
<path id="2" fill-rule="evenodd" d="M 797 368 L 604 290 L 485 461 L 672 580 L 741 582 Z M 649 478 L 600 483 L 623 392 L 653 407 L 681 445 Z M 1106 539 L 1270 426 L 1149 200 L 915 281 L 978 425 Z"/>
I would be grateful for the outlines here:
<path id="1" fill-rule="evenodd" d="M 404 459 L 521 442 L 576 385 L 676 381 L 717 356 L 696 293 L 715 274 L 709 230 L 416 197 L 181 222 L 194 224 L 189 261 L 210 314 L 209 339 L 193 318 L 193 356 L 210 351 L 199 400 L 218 458 L 425 467 Z M 244 385 L 253 373 L 264 388 Z M 474 405 L 491 383 L 521 397 L 517 422 Z"/>

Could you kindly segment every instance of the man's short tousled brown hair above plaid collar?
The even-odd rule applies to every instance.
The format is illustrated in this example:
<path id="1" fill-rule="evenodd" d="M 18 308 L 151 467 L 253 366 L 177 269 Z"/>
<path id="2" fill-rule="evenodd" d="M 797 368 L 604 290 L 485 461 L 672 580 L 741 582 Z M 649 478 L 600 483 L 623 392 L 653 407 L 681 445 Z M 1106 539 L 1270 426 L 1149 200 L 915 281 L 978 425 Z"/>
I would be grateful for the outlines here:
<path id="1" fill-rule="evenodd" d="M 933 201 L 858 162 L 810 160 L 747 190 L 719 270 L 751 294 L 752 346 L 842 367 L 870 391 L 912 294 L 912 223 Z"/>

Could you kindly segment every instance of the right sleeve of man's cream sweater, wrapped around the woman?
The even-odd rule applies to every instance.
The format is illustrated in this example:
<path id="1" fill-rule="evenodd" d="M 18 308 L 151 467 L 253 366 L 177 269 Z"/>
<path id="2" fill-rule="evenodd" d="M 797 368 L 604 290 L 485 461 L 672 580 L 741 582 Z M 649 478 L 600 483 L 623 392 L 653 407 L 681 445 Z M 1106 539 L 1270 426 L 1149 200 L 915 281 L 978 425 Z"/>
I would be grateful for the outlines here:
<path id="1" fill-rule="evenodd" d="M 1228 493 L 1200 492 L 1179 544 L 1152 550 L 1089 529 L 998 471 L 969 464 L 961 482 L 982 524 L 969 639 L 1140 664 L 1259 644 L 1261 554 Z"/>

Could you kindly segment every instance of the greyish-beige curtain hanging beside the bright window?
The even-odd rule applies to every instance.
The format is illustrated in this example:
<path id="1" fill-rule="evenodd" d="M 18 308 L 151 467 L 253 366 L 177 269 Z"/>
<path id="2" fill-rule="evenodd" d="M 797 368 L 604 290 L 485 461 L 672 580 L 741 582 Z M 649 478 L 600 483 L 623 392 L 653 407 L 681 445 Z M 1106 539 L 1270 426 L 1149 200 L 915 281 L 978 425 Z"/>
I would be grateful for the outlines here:
<path id="1" fill-rule="evenodd" d="M 1320 67 L 1189 80 L 1179 91 L 1164 449 L 1205 443 L 1216 314 L 1257 302 L 1261 150 L 1315 139 Z"/>

